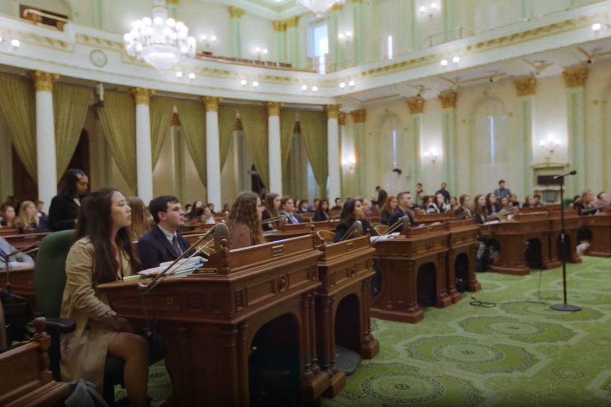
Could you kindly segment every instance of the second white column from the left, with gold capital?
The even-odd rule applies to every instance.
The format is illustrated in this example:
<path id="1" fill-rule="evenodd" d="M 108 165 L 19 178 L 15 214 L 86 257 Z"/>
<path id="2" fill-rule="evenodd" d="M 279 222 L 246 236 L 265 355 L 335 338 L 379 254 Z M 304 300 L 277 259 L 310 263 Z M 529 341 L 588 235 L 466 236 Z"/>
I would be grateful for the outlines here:
<path id="1" fill-rule="evenodd" d="M 148 104 L 153 90 L 131 88 L 136 104 L 136 182 L 137 195 L 144 202 L 153 199 L 153 159 L 151 154 L 151 118 Z"/>

